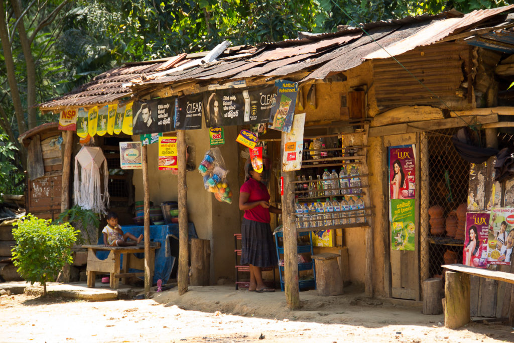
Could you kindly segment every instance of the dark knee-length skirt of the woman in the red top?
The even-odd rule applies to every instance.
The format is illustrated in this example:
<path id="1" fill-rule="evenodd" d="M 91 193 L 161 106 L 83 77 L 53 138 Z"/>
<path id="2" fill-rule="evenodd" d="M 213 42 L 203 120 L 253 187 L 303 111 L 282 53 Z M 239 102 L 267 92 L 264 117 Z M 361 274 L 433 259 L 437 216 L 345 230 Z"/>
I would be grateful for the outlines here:
<path id="1" fill-rule="evenodd" d="M 256 267 L 277 265 L 277 251 L 269 223 L 243 218 L 241 239 L 241 264 Z"/>

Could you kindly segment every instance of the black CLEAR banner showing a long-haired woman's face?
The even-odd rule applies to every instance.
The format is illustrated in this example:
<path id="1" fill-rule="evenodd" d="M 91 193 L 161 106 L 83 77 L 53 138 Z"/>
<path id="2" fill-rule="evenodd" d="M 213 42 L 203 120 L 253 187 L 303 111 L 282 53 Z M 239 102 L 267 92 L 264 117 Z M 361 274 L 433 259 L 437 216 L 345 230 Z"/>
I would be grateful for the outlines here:
<path id="1" fill-rule="evenodd" d="M 250 89 L 216 89 L 205 92 L 205 121 L 209 127 L 260 124 L 269 120 L 276 104 L 277 88 L 267 86 Z"/>

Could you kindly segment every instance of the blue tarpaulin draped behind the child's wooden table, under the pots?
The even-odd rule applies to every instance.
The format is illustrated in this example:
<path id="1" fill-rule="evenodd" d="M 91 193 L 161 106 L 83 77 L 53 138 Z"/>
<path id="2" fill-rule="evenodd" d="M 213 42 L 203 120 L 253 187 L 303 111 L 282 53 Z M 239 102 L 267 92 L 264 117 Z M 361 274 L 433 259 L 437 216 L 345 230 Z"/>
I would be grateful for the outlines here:
<path id="1" fill-rule="evenodd" d="M 136 237 L 144 233 L 144 226 L 124 225 L 121 229 L 124 233 L 130 232 Z M 188 231 L 189 240 L 191 238 L 198 238 L 198 236 L 196 236 L 196 230 L 193 223 L 188 223 Z M 156 284 L 159 279 L 162 280 L 162 283 L 166 283 L 170 278 L 171 270 L 173 269 L 173 265 L 177 257 L 172 255 L 172 253 L 176 255 L 176 251 L 171 251 L 170 240 L 168 239 L 170 236 L 178 239 L 178 224 L 150 225 L 150 241 L 159 242 L 161 245 L 159 249 L 155 249 L 155 268 L 154 277 L 152 279 L 153 284 Z M 99 237 L 98 244 L 103 244 L 103 235 Z M 106 259 L 108 254 L 109 251 L 97 251 L 97 257 L 101 260 Z M 144 254 L 135 255 L 138 258 L 144 257 Z M 123 255 L 121 257 L 121 261 L 123 261 Z M 130 269 L 130 272 L 134 272 L 135 270 L 136 269 Z"/>

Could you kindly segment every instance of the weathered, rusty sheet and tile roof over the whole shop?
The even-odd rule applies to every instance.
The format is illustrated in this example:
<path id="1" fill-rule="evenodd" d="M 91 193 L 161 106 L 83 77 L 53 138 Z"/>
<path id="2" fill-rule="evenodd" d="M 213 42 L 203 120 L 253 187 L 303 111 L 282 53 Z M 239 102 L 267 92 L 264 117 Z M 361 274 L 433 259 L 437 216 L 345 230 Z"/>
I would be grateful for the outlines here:
<path id="1" fill-rule="evenodd" d="M 55 110 L 64 106 L 103 104 L 129 97 L 133 91 L 148 93 L 157 87 L 173 87 L 191 81 L 209 84 L 246 78 L 287 78 L 298 72 L 308 73 L 301 82 L 324 79 L 366 60 L 389 58 L 390 55 L 381 46 L 392 56 L 398 56 L 470 28 L 503 23 L 507 20 L 503 13 L 513 8 L 514 5 L 510 5 L 465 15 L 450 11 L 363 25 L 371 38 L 361 28 L 352 28 L 297 40 L 260 44 L 258 47 L 231 47 L 218 60 L 189 68 L 178 66 L 189 66 L 190 62 L 205 57 L 207 53 L 126 64 L 106 71 L 70 94 L 40 107 L 42 110 Z M 176 63 L 173 65 L 171 61 Z M 163 69 L 168 71 L 163 73 Z M 129 81 L 132 81 L 132 86 L 124 87 Z"/>

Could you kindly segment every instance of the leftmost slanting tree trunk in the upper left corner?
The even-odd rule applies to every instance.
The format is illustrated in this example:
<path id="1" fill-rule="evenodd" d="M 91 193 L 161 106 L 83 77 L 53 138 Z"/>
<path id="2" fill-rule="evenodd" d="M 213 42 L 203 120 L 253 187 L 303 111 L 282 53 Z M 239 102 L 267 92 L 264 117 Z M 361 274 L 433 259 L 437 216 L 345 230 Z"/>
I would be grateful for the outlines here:
<path id="1" fill-rule="evenodd" d="M 7 33 L 7 23 L 5 22 L 5 8 L 4 1 L 0 1 L 0 41 L 2 41 L 2 49 L 4 50 L 5 67 L 7 70 L 7 79 L 9 81 L 10 95 L 12 104 L 14 106 L 14 113 L 18 124 L 18 131 L 23 133 L 27 131 L 27 124 L 25 123 L 22 100 L 20 98 L 20 91 L 16 81 L 14 71 L 14 60 L 12 58 L 11 44 L 9 43 L 9 34 Z"/>

